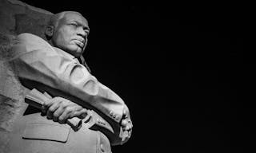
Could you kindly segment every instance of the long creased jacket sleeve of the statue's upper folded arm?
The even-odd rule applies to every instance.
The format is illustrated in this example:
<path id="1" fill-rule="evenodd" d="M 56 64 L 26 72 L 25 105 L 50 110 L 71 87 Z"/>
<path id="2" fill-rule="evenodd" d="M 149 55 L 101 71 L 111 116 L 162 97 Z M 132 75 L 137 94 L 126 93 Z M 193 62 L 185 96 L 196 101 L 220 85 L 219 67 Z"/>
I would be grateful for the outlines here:
<path id="1" fill-rule="evenodd" d="M 122 132 L 120 122 L 126 104 L 75 57 L 31 33 L 18 35 L 13 51 L 14 71 L 26 88 L 37 88 L 92 108 L 111 124 L 117 135 Z M 112 144 L 118 143 L 121 139 Z"/>

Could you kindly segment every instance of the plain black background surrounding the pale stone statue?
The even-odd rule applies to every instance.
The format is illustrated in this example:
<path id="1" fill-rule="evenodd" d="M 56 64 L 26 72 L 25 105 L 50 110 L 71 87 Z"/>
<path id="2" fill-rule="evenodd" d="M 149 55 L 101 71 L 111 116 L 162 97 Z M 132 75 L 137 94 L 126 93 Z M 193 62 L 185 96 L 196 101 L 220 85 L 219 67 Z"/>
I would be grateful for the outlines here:
<path id="1" fill-rule="evenodd" d="M 52 2 L 27 1 L 88 19 L 84 57 L 92 74 L 130 108 L 133 135 L 113 152 L 245 150 L 242 6 Z"/>

